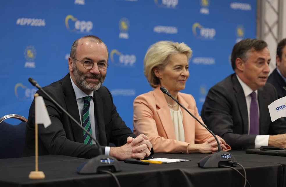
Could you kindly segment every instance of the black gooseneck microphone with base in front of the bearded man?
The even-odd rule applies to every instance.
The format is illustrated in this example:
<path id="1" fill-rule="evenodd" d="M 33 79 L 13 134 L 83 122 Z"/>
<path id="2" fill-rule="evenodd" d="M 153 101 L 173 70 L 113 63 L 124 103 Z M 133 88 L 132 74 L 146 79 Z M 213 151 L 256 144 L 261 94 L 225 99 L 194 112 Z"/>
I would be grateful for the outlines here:
<path id="1" fill-rule="evenodd" d="M 103 155 L 99 142 L 95 138 L 93 138 L 92 135 L 87 130 L 85 130 L 81 126 L 81 124 L 78 121 L 76 121 L 76 119 L 74 119 L 74 117 L 72 117 L 64 108 L 62 108 L 62 106 L 60 106 L 58 102 L 56 102 L 46 91 L 44 91 L 44 89 L 42 89 L 42 87 L 37 83 L 37 81 L 35 81 L 31 77 L 28 78 L 28 81 L 31 82 L 33 86 L 37 87 L 42 92 L 44 92 L 44 94 L 46 94 L 46 96 L 48 96 L 53 101 L 53 103 L 55 103 L 65 114 L 67 114 L 67 116 L 69 116 L 79 127 L 81 127 L 81 129 L 83 129 L 83 131 L 85 131 L 85 133 L 87 133 L 90 136 L 90 138 L 92 138 L 92 140 L 96 142 L 100 155 L 90 159 L 88 162 L 85 162 L 81 166 L 79 166 L 77 170 L 78 173 L 80 174 L 101 173 L 100 172 L 101 169 L 109 170 L 111 172 L 121 171 L 118 160 L 114 157 Z"/>

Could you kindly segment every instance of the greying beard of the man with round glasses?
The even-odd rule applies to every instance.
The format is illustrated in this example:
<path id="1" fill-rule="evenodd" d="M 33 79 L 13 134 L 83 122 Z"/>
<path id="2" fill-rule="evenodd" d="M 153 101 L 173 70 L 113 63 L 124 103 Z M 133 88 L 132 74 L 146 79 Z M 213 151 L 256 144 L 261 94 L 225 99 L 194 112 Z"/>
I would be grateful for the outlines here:
<path id="1" fill-rule="evenodd" d="M 73 74 L 74 74 L 74 79 L 76 81 L 76 84 L 84 90 L 87 91 L 96 91 L 98 90 L 102 83 L 104 82 L 105 76 L 101 76 L 101 74 L 95 75 L 95 74 L 84 74 L 83 72 L 81 72 L 75 65 L 73 65 Z M 93 78 L 93 79 L 98 79 L 99 82 L 95 83 L 95 82 L 89 82 L 86 79 L 87 78 Z"/>

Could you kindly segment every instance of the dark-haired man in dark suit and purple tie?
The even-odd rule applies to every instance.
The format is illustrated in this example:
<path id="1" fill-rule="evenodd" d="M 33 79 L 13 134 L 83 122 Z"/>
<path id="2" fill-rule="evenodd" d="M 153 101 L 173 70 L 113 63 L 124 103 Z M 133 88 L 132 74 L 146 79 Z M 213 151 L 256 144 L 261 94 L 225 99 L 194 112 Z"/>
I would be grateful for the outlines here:
<path id="1" fill-rule="evenodd" d="M 234 74 L 214 85 L 201 111 L 206 125 L 233 149 L 260 146 L 286 148 L 286 122 L 271 122 L 268 105 L 278 99 L 273 85 L 266 83 L 270 52 L 267 43 L 244 39 L 234 45 Z"/>

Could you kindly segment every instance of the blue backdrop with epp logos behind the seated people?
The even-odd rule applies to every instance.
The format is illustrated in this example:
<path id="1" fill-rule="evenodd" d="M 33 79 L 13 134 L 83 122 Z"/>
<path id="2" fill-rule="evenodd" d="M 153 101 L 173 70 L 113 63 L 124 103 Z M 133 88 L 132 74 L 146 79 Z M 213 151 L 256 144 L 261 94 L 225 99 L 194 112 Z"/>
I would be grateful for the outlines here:
<path id="1" fill-rule="evenodd" d="M 0 116 L 28 117 L 36 89 L 68 73 L 74 40 L 93 34 L 108 46 L 104 85 L 133 129 L 133 100 L 150 91 L 143 74 L 148 47 L 160 40 L 193 50 L 185 93 L 201 110 L 208 89 L 233 72 L 230 54 L 243 38 L 255 38 L 256 0 L 1 1 Z"/>

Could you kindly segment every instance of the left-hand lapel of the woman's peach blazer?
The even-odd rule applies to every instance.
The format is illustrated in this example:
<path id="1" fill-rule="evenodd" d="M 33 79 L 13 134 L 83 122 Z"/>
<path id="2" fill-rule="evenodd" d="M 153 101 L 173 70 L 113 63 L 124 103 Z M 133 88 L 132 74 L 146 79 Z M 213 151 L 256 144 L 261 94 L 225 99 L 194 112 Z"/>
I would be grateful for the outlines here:
<path id="1" fill-rule="evenodd" d="M 157 110 L 157 113 L 161 120 L 162 127 L 165 130 L 167 138 L 176 140 L 170 109 L 167 105 L 164 93 L 160 90 L 160 86 L 154 89 L 154 97 L 156 100 L 156 106 L 159 108 Z"/>

